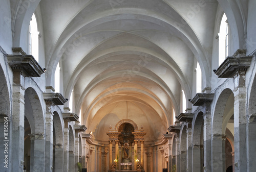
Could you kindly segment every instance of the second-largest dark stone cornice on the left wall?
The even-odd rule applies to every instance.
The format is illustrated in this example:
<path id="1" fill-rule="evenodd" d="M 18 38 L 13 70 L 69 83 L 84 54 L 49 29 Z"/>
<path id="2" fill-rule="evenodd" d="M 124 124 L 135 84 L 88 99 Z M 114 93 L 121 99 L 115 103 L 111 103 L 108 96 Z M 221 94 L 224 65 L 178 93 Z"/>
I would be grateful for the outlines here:
<path id="1" fill-rule="evenodd" d="M 46 103 L 55 105 L 64 105 L 67 100 L 60 93 L 46 92 L 44 94 L 44 100 Z"/>

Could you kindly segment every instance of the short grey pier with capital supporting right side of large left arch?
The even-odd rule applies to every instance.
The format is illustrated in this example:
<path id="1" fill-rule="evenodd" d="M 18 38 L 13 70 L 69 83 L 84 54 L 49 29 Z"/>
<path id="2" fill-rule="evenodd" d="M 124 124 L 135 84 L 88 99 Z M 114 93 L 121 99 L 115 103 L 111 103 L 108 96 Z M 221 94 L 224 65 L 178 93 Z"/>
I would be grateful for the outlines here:
<path id="1" fill-rule="evenodd" d="M 45 135 L 29 134 L 31 139 L 30 171 L 45 171 Z"/>

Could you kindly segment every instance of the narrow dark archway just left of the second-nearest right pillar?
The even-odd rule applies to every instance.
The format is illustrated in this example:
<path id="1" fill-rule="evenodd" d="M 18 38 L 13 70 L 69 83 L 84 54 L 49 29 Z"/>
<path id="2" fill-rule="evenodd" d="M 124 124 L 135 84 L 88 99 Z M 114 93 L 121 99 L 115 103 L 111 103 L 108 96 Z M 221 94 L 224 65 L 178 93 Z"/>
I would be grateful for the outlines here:
<path id="1" fill-rule="evenodd" d="M 192 148 L 192 165 L 193 171 L 203 171 L 204 155 L 203 155 L 203 132 L 204 132 L 204 118 L 203 112 L 196 115 L 193 123 L 193 148 Z"/>

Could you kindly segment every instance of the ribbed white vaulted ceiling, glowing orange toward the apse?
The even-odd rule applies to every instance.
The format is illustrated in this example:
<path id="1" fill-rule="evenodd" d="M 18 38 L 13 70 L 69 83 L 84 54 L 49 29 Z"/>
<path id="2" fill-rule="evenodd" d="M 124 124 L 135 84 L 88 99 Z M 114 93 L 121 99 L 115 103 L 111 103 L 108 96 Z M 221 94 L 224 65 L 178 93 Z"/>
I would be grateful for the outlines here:
<path id="1" fill-rule="evenodd" d="M 82 108 L 81 124 L 95 140 L 107 141 L 109 126 L 129 118 L 154 144 L 173 124 L 173 108 L 181 112 L 181 89 L 191 98 L 196 62 L 203 78 L 209 73 L 217 6 L 210 0 L 41 0 L 47 81 L 60 62 L 63 95 L 74 89 L 75 112 Z"/>

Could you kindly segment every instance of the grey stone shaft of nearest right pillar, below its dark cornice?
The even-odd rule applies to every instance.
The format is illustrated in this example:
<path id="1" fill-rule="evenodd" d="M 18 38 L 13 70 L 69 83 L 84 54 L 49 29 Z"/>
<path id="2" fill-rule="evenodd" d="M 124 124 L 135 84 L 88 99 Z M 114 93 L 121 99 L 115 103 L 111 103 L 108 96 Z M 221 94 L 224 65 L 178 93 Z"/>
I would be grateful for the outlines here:
<path id="1" fill-rule="evenodd" d="M 238 71 L 234 81 L 237 86 L 234 90 L 234 163 L 237 164 L 234 171 L 242 172 L 247 170 L 245 71 Z"/>

